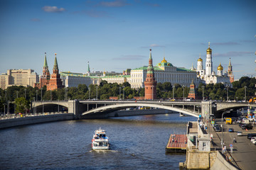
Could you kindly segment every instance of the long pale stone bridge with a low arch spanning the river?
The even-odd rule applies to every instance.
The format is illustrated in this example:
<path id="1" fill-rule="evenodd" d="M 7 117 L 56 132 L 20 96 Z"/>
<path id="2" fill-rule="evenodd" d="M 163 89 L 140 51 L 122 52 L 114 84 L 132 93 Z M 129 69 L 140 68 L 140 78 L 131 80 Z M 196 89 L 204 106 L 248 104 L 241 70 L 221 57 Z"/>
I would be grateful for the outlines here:
<path id="1" fill-rule="evenodd" d="M 255 103 L 233 103 L 212 101 L 33 101 L 36 113 L 62 112 L 74 113 L 75 118 L 106 118 L 106 115 L 125 108 L 162 108 L 164 110 L 198 117 L 215 114 L 220 117 L 223 111 L 246 106 L 256 107 Z"/>

